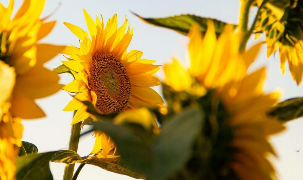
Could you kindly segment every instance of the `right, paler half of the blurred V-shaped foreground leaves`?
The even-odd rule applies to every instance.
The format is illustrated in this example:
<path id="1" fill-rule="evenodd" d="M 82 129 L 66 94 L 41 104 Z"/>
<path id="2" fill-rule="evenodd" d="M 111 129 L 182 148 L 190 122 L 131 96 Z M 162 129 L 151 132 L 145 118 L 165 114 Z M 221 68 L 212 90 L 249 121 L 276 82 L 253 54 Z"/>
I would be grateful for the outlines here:
<path id="1" fill-rule="evenodd" d="M 199 110 L 186 110 L 165 121 L 153 146 L 155 169 L 152 179 L 166 179 L 191 157 L 195 137 L 202 130 L 203 115 Z"/>

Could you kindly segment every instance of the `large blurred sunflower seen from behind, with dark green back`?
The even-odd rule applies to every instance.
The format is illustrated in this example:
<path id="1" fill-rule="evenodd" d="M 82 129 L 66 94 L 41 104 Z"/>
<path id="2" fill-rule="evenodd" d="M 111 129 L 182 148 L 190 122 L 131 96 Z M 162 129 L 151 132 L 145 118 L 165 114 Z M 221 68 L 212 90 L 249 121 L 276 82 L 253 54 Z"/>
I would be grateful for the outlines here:
<path id="1" fill-rule="evenodd" d="M 208 90 L 204 97 L 197 99 L 205 109 L 205 131 L 186 169 L 173 179 L 182 179 L 179 178 L 182 175 L 190 179 L 275 179 L 275 170 L 266 155 L 276 154 L 268 138 L 284 127 L 267 113 L 277 102 L 279 93 L 263 93 L 265 68 L 247 75 L 246 70 L 261 44 L 239 52 L 240 33 L 227 25 L 217 38 L 211 21 L 204 37 L 198 25 L 190 30 L 188 74 Z M 191 78 L 180 64 L 174 63 L 178 67 L 174 72 L 176 76 L 188 81 L 174 86 L 172 80 L 175 79 L 170 81 L 168 77 L 173 75 L 166 70 L 169 74 L 166 84 L 175 90 L 185 90 L 190 87 Z"/>

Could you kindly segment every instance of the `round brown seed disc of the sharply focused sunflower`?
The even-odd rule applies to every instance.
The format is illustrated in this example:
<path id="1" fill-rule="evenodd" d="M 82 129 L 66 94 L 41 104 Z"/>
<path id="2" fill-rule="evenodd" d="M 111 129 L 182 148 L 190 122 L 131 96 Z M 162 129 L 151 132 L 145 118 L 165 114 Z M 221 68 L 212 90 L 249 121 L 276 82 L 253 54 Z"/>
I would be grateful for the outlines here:
<path id="1" fill-rule="evenodd" d="M 131 83 L 120 60 L 112 54 L 96 53 L 89 72 L 88 85 L 97 95 L 96 107 L 101 113 L 124 110 L 128 105 Z"/>

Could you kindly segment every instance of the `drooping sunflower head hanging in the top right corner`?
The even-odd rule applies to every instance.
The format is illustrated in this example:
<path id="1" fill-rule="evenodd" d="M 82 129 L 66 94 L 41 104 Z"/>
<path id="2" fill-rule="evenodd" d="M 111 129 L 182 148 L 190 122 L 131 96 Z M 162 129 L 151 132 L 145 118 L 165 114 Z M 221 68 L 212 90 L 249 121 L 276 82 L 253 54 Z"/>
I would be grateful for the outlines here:
<path id="1" fill-rule="evenodd" d="M 255 31 L 266 34 L 267 57 L 278 52 L 282 74 L 288 62 L 292 78 L 300 85 L 303 76 L 303 1 L 273 1 L 266 5 L 271 6 L 261 9 Z M 260 34 L 257 33 L 255 38 Z"/>

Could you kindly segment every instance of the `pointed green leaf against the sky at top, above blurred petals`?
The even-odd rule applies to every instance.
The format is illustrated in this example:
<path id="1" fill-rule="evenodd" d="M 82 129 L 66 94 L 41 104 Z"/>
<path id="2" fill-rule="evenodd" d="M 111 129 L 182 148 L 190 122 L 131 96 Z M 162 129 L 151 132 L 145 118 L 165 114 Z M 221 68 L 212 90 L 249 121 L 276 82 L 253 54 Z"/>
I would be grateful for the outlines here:
<path id="1" fill-rule="evenodd" d="M 215 24 L 215 31 L 217 36 L 221 34 L 221 32 L 223 31 L 226 25 L 225 22 L 216 19 L 203 18 L 200 16 L 189 15 L 189 14 L 176 15 L 176 16 L 170 16 L 165 18 L 143 18 L 137 14 L 135 15 L 149 24 L 164 27 L 164 28 L 169 28 L 185 35 L 188 34 L 191 25 L 195 22 L 200 25 L 201 33 L 205 34 L 207 29 L 207 21 L 212 20 Z M 236 25 L 234 25 L 234 28 L 236 28 Z"/>

